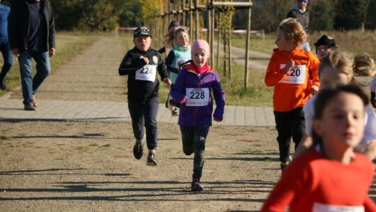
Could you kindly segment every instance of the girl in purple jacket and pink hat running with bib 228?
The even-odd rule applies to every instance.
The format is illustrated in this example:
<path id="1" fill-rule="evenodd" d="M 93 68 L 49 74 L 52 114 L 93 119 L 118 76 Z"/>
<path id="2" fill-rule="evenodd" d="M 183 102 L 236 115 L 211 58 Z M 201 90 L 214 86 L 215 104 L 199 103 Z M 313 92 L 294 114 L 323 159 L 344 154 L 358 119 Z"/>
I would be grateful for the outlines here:
<path id="1" fill-rule="evenodd" d="M 214 95 L 217 107 L 214 110 L 214 121 L 222 121 L 224 117 L 225 95 L 217 73 L 208 65 L 210 48 L 205 40 L 196 40 L 191 46 L 192 63 L 184 66 L 171 96 L 180 103 L 178 124 L 182 133 L 183 152 L 190 156 L 194 153 L 194 173 L 191 190 L 203 191 L 200 179 L 203 172 L 205 141 L 212 126 Z"/>

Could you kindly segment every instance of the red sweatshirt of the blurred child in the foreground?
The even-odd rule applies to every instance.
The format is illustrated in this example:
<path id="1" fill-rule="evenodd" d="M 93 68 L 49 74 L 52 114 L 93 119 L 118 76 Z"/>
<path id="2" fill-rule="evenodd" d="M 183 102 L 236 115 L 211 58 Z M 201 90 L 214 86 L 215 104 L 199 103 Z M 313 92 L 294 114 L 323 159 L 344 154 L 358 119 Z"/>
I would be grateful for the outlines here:
<path id="1" fill-rule="evenodd" d="M 292 160 L 261 211 L 326 211 L 338 206 L 360 206 L 376 211 L 368 197 L 375 167 L 366 156 L 354 153 L 349 165 L 324 158 L 317 146 Z M 327 210 L 329 211 L 329 210 Z M 334 211 L 334 210 L 332 210 Z M 340 208 L 338 211 L 352 211 Z"/>

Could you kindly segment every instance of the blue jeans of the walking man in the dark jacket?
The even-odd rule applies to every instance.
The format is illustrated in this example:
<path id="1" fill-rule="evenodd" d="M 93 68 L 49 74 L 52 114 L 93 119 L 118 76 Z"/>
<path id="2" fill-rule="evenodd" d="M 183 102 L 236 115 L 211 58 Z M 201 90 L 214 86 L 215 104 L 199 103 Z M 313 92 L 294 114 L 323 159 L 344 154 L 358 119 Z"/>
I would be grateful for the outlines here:
<path id="1" fill-rule="evenodd" d="M 36 61 L 36 75 L 33 77 L 33 59 Z M 40 84 L 51 72 L 48 52 L 32 52 L 26 50 L 18 56 L 19 72 L 21 73 L 22 95 L 24 104 L 33 103 Z"/>

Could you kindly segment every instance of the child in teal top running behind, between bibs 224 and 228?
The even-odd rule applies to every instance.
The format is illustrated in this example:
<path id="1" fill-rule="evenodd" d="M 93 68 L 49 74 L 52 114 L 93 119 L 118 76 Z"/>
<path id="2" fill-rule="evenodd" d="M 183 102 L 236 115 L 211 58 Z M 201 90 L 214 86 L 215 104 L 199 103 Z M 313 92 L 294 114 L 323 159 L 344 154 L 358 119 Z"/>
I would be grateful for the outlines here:
<path id="1" fill-rule="evenodd" d="M 176 77 L 180 70 L 180 64 L 191 59 L 191 45 L 189 45 L 189 34 L 186 27 L 179 27 L 173 31 L 173 35 L 169 40 L 174 40 L 175 45 L 173 45 L 169 55 L 166 58 L 167 72 L 170 75 L 172 86 L 175 84 Z M 167 105 L 171 110 L 172 116 L 178 116 L 178 107 L 174 107 L 170 104 L 171 95 L 167 100 Z"/>

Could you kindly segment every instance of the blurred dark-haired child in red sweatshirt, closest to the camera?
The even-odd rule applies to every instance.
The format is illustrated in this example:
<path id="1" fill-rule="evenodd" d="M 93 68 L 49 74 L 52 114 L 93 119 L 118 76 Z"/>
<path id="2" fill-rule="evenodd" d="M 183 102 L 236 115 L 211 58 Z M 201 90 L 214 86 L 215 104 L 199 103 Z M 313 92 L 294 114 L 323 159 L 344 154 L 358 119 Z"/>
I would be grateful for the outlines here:
<path id="1" fill-rule="evenodd" d="M 356 85 L 322 89 L 315 101 L 315 146 L 285 169 L 261 211 L 376 211 L 368 190 L 373 163 L 361 142 L 368 96 Z"/>

